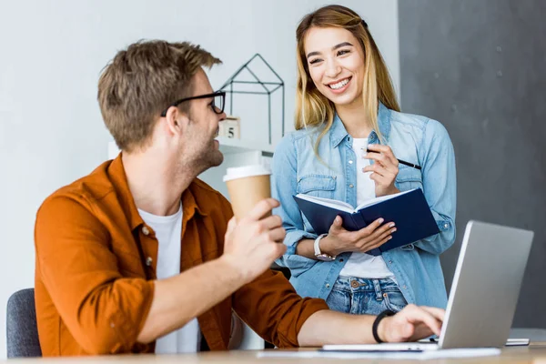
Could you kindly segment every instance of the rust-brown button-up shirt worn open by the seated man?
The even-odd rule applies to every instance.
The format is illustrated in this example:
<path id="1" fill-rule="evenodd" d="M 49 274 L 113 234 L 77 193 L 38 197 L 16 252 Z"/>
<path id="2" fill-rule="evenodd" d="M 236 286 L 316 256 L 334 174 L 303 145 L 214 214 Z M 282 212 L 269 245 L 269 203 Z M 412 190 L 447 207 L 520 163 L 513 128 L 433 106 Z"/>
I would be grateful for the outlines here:
<path id="1" fill-rule="evenodd" d="M 222 254 L 227 199 L 196 179 L 182 197 L 181 270 Z M 44 356 L 154 352 L 136 342 L 154 295 L 157 238 L 138 215 L 121 155 L 45 199 L 35 223 L 35 304 Z M 191 295 L 191 290 L 187 291 Z M 280 348 L 328 306 L 266 273 L 199 316 L 208 347 L 227 349 L 231 310 Z"/>

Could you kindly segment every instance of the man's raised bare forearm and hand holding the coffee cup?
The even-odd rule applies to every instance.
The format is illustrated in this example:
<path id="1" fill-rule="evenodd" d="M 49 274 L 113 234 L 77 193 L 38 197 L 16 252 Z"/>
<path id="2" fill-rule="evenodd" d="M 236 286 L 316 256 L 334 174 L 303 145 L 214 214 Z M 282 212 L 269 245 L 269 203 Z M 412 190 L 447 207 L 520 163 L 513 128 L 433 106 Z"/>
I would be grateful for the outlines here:
<path id="1" fill-rule="evenodd" d="M 238 223 L 232 217 L 227 224 L 222 257 L 188 269 L 177 277 L 157 281 L 154 301 L 138 340 L 152 341 L 182 327 L 265 274 L 286 249 L 277 243 L 286 234 L 280 218 L 262 219 L 276 206 L 278 202 L 269 198 L 259 202 L 248 217 Z M 188 289 L 192 295 L 187 294 Z"/>

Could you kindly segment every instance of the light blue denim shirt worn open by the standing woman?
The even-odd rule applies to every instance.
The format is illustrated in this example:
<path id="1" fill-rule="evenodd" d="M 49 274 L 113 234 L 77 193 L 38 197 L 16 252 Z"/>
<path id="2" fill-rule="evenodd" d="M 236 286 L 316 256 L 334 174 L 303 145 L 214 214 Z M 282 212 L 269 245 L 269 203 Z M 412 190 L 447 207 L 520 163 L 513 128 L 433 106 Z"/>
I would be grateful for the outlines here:
<path id="1" fill-rule="evenodd" d="M 447 293 L 440 267 L 440 254 L 455 241 L 456 174 L 450 136 L 438 121 L 402 114 L 379 104 L 379 130 L 394 155 L 422 169 L 399 165 L 395 186 L 400 191 L 420 187 L 436 219 L 440 233 L 405 247 L 383 253 L 400 291 L 409 303 L 445 308 Z M 277 263 L 290 269 L 290 282 L 302 297 L 323 298 L 350 256 L 342 253 L 333 261 L 319 261 L 296 254 L 302 238 L 317 238 L 293 196 L 298 193 L 334 198 L 357 206 L 356 156 L 352 137 L 335 116 L 321 139 L 319 156 L 313 151 L 321 126 L 300 129 L 284 136 L 273 156 L 273 197 L 280 201 L 274 213 L 287 230 L 286 254 Z M 369 144 L 380 144 L 372 131 Z M 395 221 L 396 222 L 396 221 Z M 396 233 L 395 233 L 396 234 Z"/>

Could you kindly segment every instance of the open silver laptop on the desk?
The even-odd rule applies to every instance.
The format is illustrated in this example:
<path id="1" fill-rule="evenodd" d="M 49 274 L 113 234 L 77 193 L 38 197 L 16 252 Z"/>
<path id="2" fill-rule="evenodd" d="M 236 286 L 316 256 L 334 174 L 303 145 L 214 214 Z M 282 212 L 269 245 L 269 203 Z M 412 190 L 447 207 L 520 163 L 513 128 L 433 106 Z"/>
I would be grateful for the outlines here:
<path id="1" fill-rule="evenodd" d="M 467 224 L 437 343 L 325 345 L 324 351 L 501 348 L 510 335 L 534 233 L 479 221 Z"/>

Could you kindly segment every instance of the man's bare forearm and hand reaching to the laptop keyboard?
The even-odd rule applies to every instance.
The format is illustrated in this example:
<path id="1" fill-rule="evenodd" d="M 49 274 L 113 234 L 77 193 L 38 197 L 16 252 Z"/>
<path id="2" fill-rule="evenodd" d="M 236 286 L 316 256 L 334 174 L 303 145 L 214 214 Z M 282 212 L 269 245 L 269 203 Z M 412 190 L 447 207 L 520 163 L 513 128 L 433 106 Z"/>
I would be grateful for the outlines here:
<path id="1" fill-rule="evenodd" d="M 408 305 L 396 315 L 379 321 L 379 339 L 385 342 L 413 341 L 440 335 L 444 310 Z M 375 343 L 371 327 L 375 316 L 349 315 L 322 310 L 308 318 L 298 333 L 301 347 L 326 344 Z"/>

